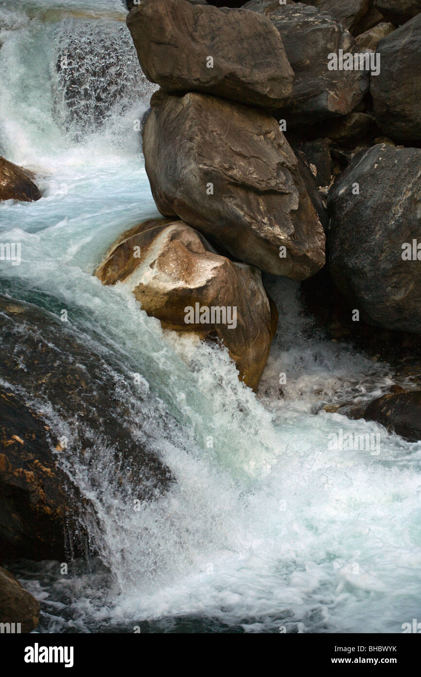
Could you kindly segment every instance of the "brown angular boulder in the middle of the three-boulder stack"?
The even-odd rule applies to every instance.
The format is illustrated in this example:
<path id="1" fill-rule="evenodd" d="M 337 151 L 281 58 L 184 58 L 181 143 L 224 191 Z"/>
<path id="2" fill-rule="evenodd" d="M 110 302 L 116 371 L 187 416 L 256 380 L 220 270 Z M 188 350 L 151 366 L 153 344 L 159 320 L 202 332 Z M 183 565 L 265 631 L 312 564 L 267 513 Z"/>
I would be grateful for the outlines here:
<path id="1" fill-rule="evenodd" d="M 162 215 L 274 275 L 303 280 L 324 264 L 322 227 L 274 118 L 195 93 L 157 92 L 151 105 L 143 153 Z"/>

